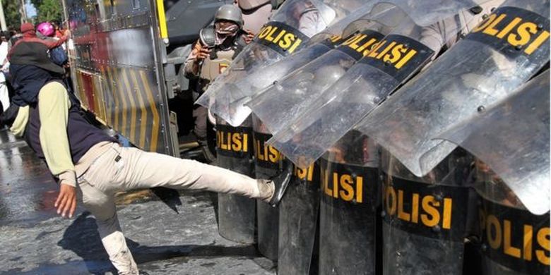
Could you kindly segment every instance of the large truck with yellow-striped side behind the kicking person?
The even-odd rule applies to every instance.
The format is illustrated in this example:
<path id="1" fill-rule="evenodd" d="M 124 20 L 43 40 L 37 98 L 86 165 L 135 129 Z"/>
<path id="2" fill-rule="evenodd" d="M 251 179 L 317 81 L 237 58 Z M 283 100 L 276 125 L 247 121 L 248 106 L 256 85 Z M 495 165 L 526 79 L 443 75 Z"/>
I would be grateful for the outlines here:
<path id="1" fill-rule="evenodd" d="M 186 106 L 171 101 L 190 89 L 182 65 L 199 30 L 232 3 L 63 0 L 71 84 L 83 109 L 131 145 L 179 157 L 177 111 Z"/>

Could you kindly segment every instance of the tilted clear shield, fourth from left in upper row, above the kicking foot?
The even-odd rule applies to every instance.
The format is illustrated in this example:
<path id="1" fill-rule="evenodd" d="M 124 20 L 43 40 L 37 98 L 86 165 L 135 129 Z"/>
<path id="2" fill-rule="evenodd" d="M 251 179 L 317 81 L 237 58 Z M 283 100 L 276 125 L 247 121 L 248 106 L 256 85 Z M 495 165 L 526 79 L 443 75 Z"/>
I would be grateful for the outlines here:
<path id="1" fill-rule="evenodd" d="M 462 27 L 454 17 L 439 18 L 438 23 L 451 23 L 447 32 L 458 32 Z M 425 40 L 434 39 L 434 32 L 427 31 L 431 27 L 420 27 L 413 20 L 404 19 L 268 143 L 298 166 L 311 164 L 447 44 L 442 40 L 434 49 L 425 45 Z"/>

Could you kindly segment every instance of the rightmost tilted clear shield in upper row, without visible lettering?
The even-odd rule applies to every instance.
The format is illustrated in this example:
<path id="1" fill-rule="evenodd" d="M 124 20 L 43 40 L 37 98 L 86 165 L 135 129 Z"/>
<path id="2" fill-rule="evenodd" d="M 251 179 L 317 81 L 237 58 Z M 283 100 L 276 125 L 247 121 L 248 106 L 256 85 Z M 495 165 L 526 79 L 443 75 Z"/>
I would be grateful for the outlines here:
<path id="1" fill-rule="evenodd" d="M 534 214 L 549 212 L 549 71 L 439 138 L 459 145 L 503 179 Z"/>

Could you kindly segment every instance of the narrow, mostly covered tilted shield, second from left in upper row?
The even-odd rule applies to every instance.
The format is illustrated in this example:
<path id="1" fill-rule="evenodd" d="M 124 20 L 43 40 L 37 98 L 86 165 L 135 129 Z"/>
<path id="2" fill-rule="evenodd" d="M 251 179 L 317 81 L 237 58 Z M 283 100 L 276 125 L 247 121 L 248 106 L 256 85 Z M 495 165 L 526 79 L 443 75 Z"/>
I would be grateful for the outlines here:
<path id="1" fill-rule="evenodd" d="M 318 58 L 327 51 L 338 47 L 340 43 L 353 34 L 352 32 L 345 31 L 345 28 L 350 23 L 360 18 L 366 18 L 367 20 L 367 18 L 372 17 L 368 16 L 368 14 L 371 14 L 370 11 L 372 11 L 372 2 L 374 1 L 367 1 L 357 11 L 327 27 L 326 30 L 319 34 L 314 35 L 307 43 L 308 46 L 304 49 L 297 51 L 295 54 L 283 56 L 280 61 L 265 66 L 261 70 L 255 70 L 249 75 L 244 75 L 243 78 L 237 80 L 235 83 L 227 83 L 225 88 L 226 96 L 224 98 L 217 98 L 217 100 L 220 104 L 227 106 L 229 113 L 219 113 L 218 116 L 221 116 L 232 125 L 239 125 L 243 118 L 251 114 L 251 110 L 243 105 L 244 102 L 247 102 L 257 92 L 272 85 L 274 81 L 283 78 L 288 73 L 295 71 L 297 68 Z M 389 6 L 390 4 L 384 5 Z M 223 99 L 227 99 L 227 102 L 222 103 L 221 100 Z"/>

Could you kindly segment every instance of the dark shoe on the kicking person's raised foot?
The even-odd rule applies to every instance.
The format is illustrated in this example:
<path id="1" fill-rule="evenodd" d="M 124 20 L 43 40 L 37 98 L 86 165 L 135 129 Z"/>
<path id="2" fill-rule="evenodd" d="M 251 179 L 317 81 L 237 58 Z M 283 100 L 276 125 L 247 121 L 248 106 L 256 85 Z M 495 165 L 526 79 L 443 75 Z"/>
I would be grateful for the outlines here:
<path id="1" fill-rule="evenodd" d="M 285 159 L 283 167 L 280 169 L 280 173 L 271 177 L 268 180 L 259 179 L 259 190 L 261 194 L 261 200 L 267 202 L 272 207 L 277 207 L 285 190 L 289 185 L 292 176 L 292 163 Z"/>

